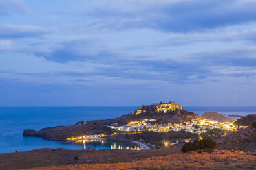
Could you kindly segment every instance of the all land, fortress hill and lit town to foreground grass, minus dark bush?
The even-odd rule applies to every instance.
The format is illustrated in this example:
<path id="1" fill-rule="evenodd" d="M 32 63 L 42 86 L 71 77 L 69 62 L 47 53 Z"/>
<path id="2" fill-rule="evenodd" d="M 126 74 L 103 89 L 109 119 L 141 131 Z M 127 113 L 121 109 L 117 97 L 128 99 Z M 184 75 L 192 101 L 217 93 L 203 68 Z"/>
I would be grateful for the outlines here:
<path id="1" fill-rule="evenodd" d="M 90 140 L 130 141 L 139 149 L 95 151 L 36 149 L 0 154 L 0 169 L 252 169 L 256 165 L 255 114 L 220 121 L 219 114 L 200 117 L 175 102 L 145 105 L 134 113 L 70 126 L 24 130 L 23 136 L 65 143 Z M 215 117 L 217 116 L 217 117 Z M 210 152 L 182 153 L 186 143 L 212 138 Z M 67 144 L 68 145 L 68 144 Z"/>

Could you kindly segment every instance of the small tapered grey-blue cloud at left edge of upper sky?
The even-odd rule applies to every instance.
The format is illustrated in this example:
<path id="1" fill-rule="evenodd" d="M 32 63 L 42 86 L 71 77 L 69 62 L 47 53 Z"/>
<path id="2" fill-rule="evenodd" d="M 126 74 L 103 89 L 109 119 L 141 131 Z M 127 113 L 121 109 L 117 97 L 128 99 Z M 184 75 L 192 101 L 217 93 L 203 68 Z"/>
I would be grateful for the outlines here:
<path id="1" fill-rule="evenodd" d="M 0 38 L 24 38 L 49 34 L 50 29 L 33 25 L 14 25 L 0 23 Z"/>

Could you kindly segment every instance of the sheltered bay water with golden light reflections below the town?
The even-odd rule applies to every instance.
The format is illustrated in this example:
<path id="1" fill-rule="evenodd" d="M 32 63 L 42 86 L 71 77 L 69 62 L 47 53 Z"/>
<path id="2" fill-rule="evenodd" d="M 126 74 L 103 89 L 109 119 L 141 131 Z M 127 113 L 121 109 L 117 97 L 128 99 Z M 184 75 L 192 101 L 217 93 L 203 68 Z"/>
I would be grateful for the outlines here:
<path id="1" fill-rule="evenodd" d="M 135 143 L 129 142 L 114 142 L 114 141 L 105 141 L 105 140 L 78 140 L 76 143 L 83 145 L 83 149 L 87 147 L 98 147 L 102 145 L 105 149 L 127 149 L 127 150 L 141 150 L 142 147 Z"/>

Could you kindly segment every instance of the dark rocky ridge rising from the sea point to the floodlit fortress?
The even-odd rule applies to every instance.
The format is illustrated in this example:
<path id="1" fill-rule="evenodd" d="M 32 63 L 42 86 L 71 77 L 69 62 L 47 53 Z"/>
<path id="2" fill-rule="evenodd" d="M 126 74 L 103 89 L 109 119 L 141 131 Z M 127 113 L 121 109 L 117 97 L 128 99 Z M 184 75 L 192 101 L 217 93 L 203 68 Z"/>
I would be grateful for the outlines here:
<path id="1" fill-rule="evenodd" d="M 126 125 L 129 121 L 140 121 L 142 119 L 156 119 L 156 123 L 178 123 L 190 121 L 191 117 L 195 116 L 193 112 L 183 110 L 182 106 L 178 103 L 169 102 L 168 104 L 153 104 L 142 106 L 141 112 L 138 110 L 135 114 L 125 114 L 122 117 L 115 119 L 96 120 L 96 121 L 81 121 L 75 125 L 70 126 L 57 126 L 47 127 L 42 130 L 36 131 L 32 129 L 24 130 L 23 136 L 35 136 L 48 140 L 60 140 L 82 136 L 85 134 L 114 134 L 114 130 L 107 127 L 113 123 L 118 125 Z M 148 114 L 148 113 L 156 114 Z"/>

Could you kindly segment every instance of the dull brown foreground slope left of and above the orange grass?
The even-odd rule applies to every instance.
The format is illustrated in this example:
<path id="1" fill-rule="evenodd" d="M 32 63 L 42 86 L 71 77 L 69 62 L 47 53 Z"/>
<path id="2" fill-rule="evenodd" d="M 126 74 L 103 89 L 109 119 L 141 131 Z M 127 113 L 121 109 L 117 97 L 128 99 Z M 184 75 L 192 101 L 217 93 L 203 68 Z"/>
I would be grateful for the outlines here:
<path id="1" fill-rule="evenodd" d="M 55 149 L 52 151 L 52 149 L 36 149 L 33 151 L 0 154 L 0 170 L 67 165 L 72 163 L 127 162 L 151 158 L 152 156 L 166 156 L 180 152 L 180 148 L 149 149 L 142 151 L 83 151 L 69 149 Z M 74 160 L 75 156 L 78 156 L 78 161 Z"/>

